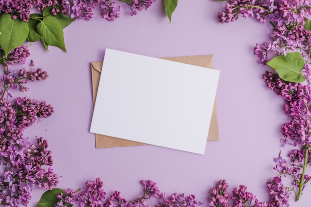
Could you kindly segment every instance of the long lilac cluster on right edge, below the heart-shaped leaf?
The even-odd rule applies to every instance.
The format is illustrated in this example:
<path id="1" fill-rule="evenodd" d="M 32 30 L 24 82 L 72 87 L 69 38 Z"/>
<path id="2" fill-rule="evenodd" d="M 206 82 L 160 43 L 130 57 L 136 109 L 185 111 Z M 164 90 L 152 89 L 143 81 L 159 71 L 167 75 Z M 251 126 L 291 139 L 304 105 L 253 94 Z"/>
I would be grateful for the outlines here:
<path id="1" fill-rule="evenodd" d="M 280 141 L 295 148 L 288 154 L 290 162 L 283 159 L 280 152 L 278 158 L 274 159 L 277 163 L 274 169 L 279 172 L 279 177 L 290 175 L 294 179 L 294 186 L 290 189 L 299 200 L 303 189 L 311 180 L 306 174 L 307 166 L 311 163 L 311 86 L 286 82 L 272 72 L 266 72 L 263 79 L 271 90 L 286 100 L 284 110 L 291 120 L 283 125 L 284 138 Z"/>

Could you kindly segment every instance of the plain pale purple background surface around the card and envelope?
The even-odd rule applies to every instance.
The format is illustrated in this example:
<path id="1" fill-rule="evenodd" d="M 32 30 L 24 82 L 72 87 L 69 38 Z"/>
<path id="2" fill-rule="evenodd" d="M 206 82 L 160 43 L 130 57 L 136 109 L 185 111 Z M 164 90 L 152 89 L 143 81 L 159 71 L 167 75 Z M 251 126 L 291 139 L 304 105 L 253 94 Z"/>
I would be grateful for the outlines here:
<path id="1" fill-rule="evenodd" d="M 257 64 L 253 55 L 255 44 L 269 39 L 271 26 L 242 17 L 221 24 L 217 12 L 225 3 L 216 0 L 179 1 L 170 24 L 161 0 L 133 17 L 124 3 L 120 5 L 121 17 L 114 22 L 102 19 L 96 10 L 90 21 L 75 21 L 65 28 L 67 53 L 55 47 L 46 52 L 39 42 L 30 47 L 29 60 L 48 71 L 49 78 L 29 83 L 27 93 L 15 95 L 46 100 L 54 107 L 50 118 L 29 127 L 24 136 L 48 140 L 53 169 L 61 176 L 58 187 L 78 189 L 100 177 L 106 198 L 117 190 L 130 200 L 140 196 L 140 180 L 150 179 L 166 195 L 194 194 L 209 206 L 210 188 L 226 179 L 230 192 L 243 184 L 260 201 L 268 201 L 266 181 L 277 175 L 273 158 L 280 149 L 286 157 L 289 149 L 279 142 L 281 126 L 288 121 L 283 99 L 265 86 L 262 74 L 268 68 Z M 89 133 L 90 62 L 102 61 L 105 48 L 152 57 L 213 54 L 214 68 L 221 70 L 220 140 L 207 142 L 205 155 L 151 145 L 95 149 Z M 35 189 L 28 206 L 35 207 L 42 193 Z M 291 206 L 309 204 L 310 193 L 309 186 L 299 203 L 291 199 Z"/>

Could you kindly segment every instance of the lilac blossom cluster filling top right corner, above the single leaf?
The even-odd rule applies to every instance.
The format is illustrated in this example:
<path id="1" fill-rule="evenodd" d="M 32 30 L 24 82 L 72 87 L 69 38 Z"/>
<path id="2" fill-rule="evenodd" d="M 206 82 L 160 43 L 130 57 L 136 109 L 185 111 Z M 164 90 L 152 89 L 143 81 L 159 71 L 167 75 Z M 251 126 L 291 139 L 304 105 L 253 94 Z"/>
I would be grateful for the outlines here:
<path id="1" fill-rule="evenodd" d="M 273 25 L 271 40 L 254 48 L 259 63 L 266 64 L 269 53 L 286 55 L 299 49 L 305 57 L 309 54 L 311 31 L 304 25 L 311 20 L 310 7 L 311 0 L 228 0 L 218 18 L 222 23 L 237 20 L 239 15 L 255 17 L 262 23 L 269 21 Z"/>

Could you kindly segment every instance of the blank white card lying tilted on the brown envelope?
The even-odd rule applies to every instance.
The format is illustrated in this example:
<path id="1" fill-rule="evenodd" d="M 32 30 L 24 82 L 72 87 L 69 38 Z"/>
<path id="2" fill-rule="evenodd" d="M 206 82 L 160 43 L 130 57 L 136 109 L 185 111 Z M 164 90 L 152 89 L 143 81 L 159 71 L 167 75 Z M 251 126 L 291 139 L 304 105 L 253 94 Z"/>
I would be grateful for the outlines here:
<path id="1" fill-rule="evenodd" d="M 90 132 L 204 154 L 219 74 L 106 49 Z"/>

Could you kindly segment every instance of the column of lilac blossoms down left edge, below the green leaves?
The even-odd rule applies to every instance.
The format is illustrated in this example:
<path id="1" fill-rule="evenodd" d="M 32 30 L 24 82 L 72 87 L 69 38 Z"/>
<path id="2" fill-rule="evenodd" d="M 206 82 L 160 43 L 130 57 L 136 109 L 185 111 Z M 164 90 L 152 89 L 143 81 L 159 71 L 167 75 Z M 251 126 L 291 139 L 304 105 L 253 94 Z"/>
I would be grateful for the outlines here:
<path id="1" fill-rule="evenodd" d="M 9 1 L 6 5 L 18 7 L 21 2 L 24 1 Z M 36 144 L 32 144 L 22 133 L 27 127 L 51 116 L 54 109 L 45 101 L 12 98 L 10 91 L 17 88 L 21 92 L 27 91 L 24 85 L 28 81 L 45 80 L 48 74 L 42 69 L 21 68 L 18 72 L 13 69 L 16 64 L 25 64 L 30 55 L 23 45 L 8 56 L 0 48 L 0 55 L 3 66 L 0 77 L 0 205 L 27 206 L 32 189 L 35 186 L 43 190 L 55 188 L 58 175 L 51 168 L 53 160 L 47 140 L 38 138 Z"/>

